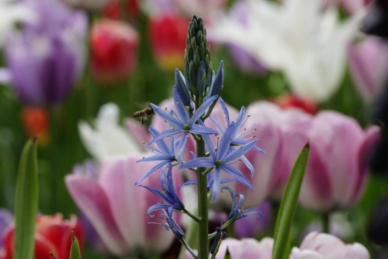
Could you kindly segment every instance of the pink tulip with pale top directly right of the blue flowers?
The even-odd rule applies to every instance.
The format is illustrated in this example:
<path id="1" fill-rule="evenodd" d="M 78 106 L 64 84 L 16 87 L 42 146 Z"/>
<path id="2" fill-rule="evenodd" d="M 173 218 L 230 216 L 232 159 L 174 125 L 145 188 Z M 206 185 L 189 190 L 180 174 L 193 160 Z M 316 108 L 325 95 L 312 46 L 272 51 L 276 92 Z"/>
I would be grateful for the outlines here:
<path id="1" fill-rule="evenodd" d="M 247 126 L 254 124 L 257 128 L 254 134 L 259 138 L 258 146 L 267 152 L 263 155 L 251 150 L 246 154 L 255 168 L 253 178 L 245 166 L 240 168 L 250 178 L 253 193 L 242 185 L 238 190 L 246 194 L 245 205 L 254 207 L 269 196 L 280 197 L 292 165 L 307 143 L 312 117 L 299 109 L 282 110 L 267 101 L 252 103 L 246 114 L 251 115 Z"/>

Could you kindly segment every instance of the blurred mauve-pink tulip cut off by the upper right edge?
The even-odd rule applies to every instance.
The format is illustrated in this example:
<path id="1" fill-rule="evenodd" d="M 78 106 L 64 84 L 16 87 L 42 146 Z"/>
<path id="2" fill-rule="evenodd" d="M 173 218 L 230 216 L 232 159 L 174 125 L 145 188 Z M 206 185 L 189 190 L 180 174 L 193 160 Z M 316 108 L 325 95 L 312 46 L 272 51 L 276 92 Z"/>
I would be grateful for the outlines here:
<path id="1" fill-rule="evenodd" d="M 369 36 L 348 46 L 350 71 L 357 91 L 370 102 L 384 89 L 388 81 L 388 43 Z"/>

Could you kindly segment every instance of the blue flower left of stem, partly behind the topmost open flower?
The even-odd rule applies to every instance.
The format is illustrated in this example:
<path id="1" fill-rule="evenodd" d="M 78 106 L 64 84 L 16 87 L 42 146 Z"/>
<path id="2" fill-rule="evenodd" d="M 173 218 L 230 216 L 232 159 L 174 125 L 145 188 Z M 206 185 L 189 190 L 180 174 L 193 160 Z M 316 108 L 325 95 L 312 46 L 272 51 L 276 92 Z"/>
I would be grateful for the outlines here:
<path id="1" fill-rule="evenodd" d="M 160 135 L 160 132 L 152 126 L 149 126 L 148 130 L 151 133 L 152 137 L 154 138 Z M 141 182 L 148 176 L 152 175 L 159 168 L 162 168 L 163 166 L 166 166 L 174 161 L 177 161 L 175 157 L 175 147 L 177 143 L 180 142 L 180 139 L 175 141 L 174 137 L 171 136 L 169 137 L 169 141 L 170 141 L 169 143 L 170 146 L 167 146 L 164 139 L 156 141 L 156 145 L 158 146 L 158 148 L 151 146 L 150 144 L 146 144 L 150 148 L 148 151 L 155 153 L 155 155 L 140 159 L 137 162 L 146 162 L 146 161 L 160 161 L 160 162 L 154 167 L 152 167 L 150 170 L 148 170 L 148 172 L 146 172 L 146 174 L 142 178 L 140 178 L 137 182 L 135 182 L 135 185 L 138 185 L 139 182 Z"/>

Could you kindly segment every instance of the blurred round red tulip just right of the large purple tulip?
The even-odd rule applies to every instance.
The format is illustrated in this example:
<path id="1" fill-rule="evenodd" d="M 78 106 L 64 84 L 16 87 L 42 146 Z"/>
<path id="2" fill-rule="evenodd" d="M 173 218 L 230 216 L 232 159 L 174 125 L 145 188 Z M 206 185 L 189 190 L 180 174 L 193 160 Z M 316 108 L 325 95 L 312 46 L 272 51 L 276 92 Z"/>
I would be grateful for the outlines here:
<path id="1" fill-rule="evenodd" d="M 137 59 L 137 32 L 121 21 L 101 19 L 90 34 L 92 73 L 100 81 L 128 79 Z"/>

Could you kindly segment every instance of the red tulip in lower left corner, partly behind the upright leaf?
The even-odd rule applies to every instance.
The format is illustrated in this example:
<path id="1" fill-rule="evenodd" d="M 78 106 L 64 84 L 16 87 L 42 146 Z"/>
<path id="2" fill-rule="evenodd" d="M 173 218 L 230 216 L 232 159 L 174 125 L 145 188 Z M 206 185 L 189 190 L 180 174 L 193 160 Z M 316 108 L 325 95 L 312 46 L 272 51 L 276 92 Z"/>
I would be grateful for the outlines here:
<path id="1" fill-rule="evenodd" d="M 83 233 L 80 220 L 72 215 L 64 220 L 62 214 L 52 216 L 39 215 L 35 228 L 35 258 L 52 259 L 52 252 L 57 259 L 68 259 L 70 256 L 72 229 L 82 247 Z M 4 255 L 1 259 L 12 259 L 14 250 L 14 230 L 12 226 L 3 235 Z M 3 256 L 3 257 L 1 257 Z"/>

